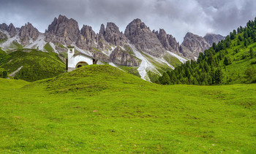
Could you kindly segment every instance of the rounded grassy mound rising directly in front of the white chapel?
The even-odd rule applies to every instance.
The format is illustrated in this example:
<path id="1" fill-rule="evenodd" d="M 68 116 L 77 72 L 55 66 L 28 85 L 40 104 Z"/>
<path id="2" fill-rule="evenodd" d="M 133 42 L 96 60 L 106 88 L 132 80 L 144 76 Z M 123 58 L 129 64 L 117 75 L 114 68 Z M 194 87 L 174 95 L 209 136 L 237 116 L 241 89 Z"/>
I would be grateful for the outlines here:
<path id="1" fill-rule="evenodd" d="M 53 93 L 68 91 L 97 92 L 102 90 L 120 91 L 132 86 L 148 85 L 132 74 L 127 74 L 110 65 L 89 65 L 61 74 L 48 80 L 39 81 Z"/>

